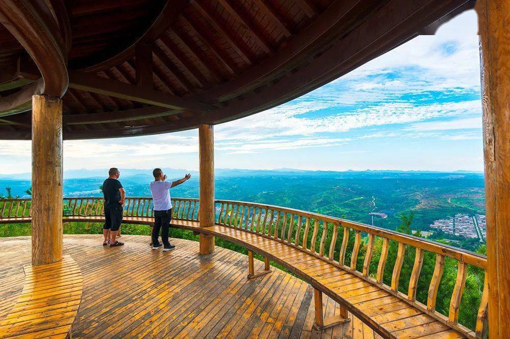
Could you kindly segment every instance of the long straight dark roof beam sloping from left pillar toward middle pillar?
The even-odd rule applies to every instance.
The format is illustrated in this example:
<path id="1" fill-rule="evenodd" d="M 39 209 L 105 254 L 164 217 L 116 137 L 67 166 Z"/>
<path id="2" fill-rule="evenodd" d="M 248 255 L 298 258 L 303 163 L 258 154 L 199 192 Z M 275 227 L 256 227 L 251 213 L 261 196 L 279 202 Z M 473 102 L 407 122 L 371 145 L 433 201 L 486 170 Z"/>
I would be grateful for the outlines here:
<path id="1" fill-rule="evenodd" d="M 172 109 L 189 109 L 202 112 L 216 109 L 213 105 L 195 99 L 172 96 L 80 71 L 69 71 L 69 87 Z"/>

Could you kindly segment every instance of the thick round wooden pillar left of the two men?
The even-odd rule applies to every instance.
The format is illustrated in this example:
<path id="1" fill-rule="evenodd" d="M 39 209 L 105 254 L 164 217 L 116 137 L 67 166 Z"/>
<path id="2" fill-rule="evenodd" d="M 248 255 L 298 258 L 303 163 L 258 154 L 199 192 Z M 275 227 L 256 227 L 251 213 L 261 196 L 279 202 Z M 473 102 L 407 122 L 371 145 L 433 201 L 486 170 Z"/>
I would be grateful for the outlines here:
<path id="1" fill-rule="evenodd" d="M 32 264 L 62 260 L 62 99 L 32 97 Z"/>

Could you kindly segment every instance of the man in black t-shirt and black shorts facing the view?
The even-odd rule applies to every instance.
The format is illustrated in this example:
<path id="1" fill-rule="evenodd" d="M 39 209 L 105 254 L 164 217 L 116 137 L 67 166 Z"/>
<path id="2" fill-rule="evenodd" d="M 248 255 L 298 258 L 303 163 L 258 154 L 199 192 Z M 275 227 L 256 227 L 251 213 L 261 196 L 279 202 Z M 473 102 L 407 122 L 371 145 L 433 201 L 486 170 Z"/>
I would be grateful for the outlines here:
<path id="1" fill-rule="evenodd" d="M 105 225 L 103 246 L 110 244 L 111 247 L 122 246 L 124 243 L 115 240 L 122 222 L 124 209 L 125 191 L 117 179 L 120 177 L 118 168 L 110 168 L 108 179 L 103 183 L 103 195 L 105 196 Z"/>

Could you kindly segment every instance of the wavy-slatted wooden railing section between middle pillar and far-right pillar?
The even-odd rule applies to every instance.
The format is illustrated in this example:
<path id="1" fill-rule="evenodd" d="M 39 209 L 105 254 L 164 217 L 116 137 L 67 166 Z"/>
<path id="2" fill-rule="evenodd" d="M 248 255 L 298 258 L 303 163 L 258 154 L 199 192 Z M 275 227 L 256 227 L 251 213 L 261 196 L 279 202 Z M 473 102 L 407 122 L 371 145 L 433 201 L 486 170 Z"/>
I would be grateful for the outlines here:
<path id="1" fill-rule="evenodd" d="M 219 210 L 218 224 L 243 229 L 307 251 L 379 286 L 464 333 L 471 330 L 458 323 L 458 314 L 468 267 L 481 269 L 486 278 L 475 331 L 477 336 L 481 336 L 485 331 L 488 316 L 488 282 L 487 258 L 484 256 L 423 238 L 311 212 L 226 200 L 217 200 L 216 204 L 216 210 Z M 366 248 L 364 258 L 360 256 L 362 243 Z M 378 261 L 374 257 L 376 243 L 380 244 Z M 388 253 L 391 248 L 396 251 L 396 258 L 394 262 L 389 263 Z M 415 258 L 412 273 L 407 281 L 402 281 L 401 269 L 404 257 L 406 252 L 409 256 L 412 251 Z M 428 286 L 426 303 L 422 303 L 417 300 L 416 295 L 424 256 L 427 253 L 432 253 L 436 257 L 436 263 Z M 456 261 L 457 276 L 448 315 L 443 315 L 437 312 L 436 301 L 447 258 Z M 391 279 L 385 280 L 385 268 L 389 265 L 393 265 Z M 404 292 L 399 289 L 400 285 L 407 286 Z"/>

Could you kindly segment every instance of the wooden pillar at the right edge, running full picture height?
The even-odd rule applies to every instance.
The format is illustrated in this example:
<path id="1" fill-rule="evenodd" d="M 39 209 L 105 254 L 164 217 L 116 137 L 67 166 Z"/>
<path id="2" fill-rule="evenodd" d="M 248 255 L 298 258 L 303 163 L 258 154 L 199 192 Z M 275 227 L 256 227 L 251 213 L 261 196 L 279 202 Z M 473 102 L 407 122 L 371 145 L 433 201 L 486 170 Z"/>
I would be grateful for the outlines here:
<path id="1" fill-rule="evenodd" d="M 478 0 L 489 332 L 510 333 L 510 2 Z"/>

